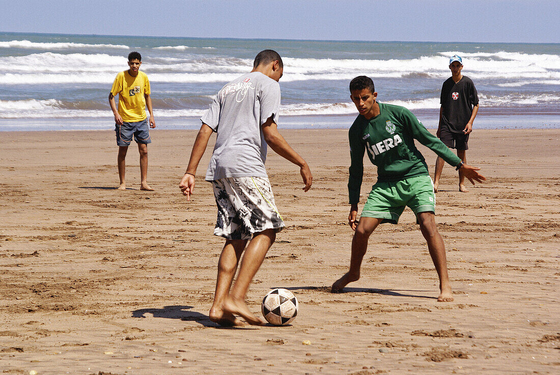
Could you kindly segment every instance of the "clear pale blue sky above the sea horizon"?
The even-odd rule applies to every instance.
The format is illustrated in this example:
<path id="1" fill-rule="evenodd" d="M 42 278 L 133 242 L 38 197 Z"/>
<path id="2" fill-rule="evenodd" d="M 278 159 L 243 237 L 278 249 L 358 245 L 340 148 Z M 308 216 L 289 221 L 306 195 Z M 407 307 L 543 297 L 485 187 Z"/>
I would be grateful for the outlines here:
<path id="1" fill-rule="evenodd" d="M 0 0 L 0 31 L 560 43 L 560 0 Z"/>

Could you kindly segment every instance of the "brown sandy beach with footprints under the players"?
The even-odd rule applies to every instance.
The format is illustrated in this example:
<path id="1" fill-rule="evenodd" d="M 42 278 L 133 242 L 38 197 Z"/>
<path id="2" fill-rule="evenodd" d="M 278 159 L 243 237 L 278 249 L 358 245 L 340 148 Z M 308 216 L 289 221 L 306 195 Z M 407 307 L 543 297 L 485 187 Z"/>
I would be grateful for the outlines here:
<path id="1" fill-rule="evenodd" d="M 372 235 L 361 279 L 330 293 L 352 239 L 347 131 L 282 133 L 314 185 L 302 192 L 298 169 L 269 151 L 287 228 L 248 304 L 257 313 L 267 291 L 283 287 L 300 313 L 287 327 L 218 328 L 207 315 L 223 243 L 203 181 L 211 146 L 187 202 L 178 183 L 193 131 L 152 131 L 155 192 L 138 189 L 136 147 L 129 189 L 114 189 L 111 131 L 1 132 L 0 373 L 560 371 L 560 129 L 475 130 L 468 161 L 488 181 L 468 193 L 444 168 L 436 221 L 451 303 L 436 301 L 437 275 L 410 210 Z M 362 197 L 375 179 L 366 166 Z"/>

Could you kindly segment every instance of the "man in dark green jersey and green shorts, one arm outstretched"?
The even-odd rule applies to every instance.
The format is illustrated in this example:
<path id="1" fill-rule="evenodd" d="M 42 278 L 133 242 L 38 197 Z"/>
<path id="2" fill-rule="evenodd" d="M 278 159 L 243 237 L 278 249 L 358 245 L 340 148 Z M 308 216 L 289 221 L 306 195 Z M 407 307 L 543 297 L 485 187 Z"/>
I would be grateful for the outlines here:
<path id="1" fill-rule="evenodd" d="M 486 178 L 480 168 L 464 164 L 440 140 L 433 136 L 406 108 L 377 103 L 377 92 L 371 78 L 360 76 L 350 82 L 351 99 L 360 113 L 349 130 L 350 156 L 348 195 L 351 204 L 348 222 L 355 231 L 352 239 L 350 269 L 334 282 L 332 291 L 340 292 L 348 283 L 360 278 L 360 266 L 367 250 L 367 240 L 381 223 L 396 224 L 405 206 L 416 215 L 422 235 L 426 238 L 430 256 L 440 277 L 438 301 L 452 301 L 447 276 L 445 246 L 437 232 L 436 198 L 428 166 L 414 145 L 418 140 L 456 166 L 474 184 Z M 363 177 L 363 153 L 377 166 L 377 182 L 363 207 L 360 221 L 356 220 L 360 187 Z"/>

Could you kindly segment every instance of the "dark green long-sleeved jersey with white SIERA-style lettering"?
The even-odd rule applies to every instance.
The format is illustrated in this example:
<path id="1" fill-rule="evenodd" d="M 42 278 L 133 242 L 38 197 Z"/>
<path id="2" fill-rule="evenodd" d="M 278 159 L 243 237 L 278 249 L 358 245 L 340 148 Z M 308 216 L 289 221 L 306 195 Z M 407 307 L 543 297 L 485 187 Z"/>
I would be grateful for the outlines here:
<path id="1" fill-rule="evenodd" d="M 381 113 L 366 119 L 358 115 L 348 132 L 350 158 L 348 179 L 350 204 L 360 201 L 363 177 L 363 152 L 377 166 L 378 182 L 394 182 L 428 173 L 424 157 L 414 145 L 418 140 L 447 163 L 456 166 L 461 159 L 433 136 L 408 109 L 379 103 Z"/>

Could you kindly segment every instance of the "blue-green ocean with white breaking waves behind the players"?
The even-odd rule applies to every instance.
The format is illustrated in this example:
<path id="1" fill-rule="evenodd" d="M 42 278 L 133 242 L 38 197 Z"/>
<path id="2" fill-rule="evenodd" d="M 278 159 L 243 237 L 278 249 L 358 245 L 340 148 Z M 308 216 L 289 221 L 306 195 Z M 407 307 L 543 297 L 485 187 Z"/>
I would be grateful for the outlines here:
<path id="1" fill-rule="evenodd" d="M 384 103 L 436 128 L 449 57 L 477 87 L 474 128 L 560 128 L 560 44 L 430 43 L 0 33 L 0 130 L 113 129 L 108 94 L 131 50 L 158 128 L 197 129 L 228 81 L 262 49 L 283 57 L 279 128 L 347 128 L 348 83 L 370 76 Z"/>

